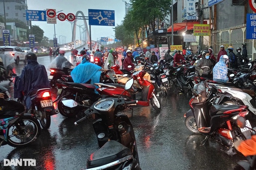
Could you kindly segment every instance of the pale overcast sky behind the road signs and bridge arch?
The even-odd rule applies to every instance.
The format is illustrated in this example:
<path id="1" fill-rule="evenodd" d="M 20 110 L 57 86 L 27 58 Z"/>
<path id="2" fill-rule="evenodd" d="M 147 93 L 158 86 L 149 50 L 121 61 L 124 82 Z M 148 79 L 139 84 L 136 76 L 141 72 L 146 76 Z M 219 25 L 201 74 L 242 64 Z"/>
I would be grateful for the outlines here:
<path id="1" fill-rule="evenodd" d="M 127 1 L 128 2 L 128 1 Z M 115 26 L 121 24 L 123 17 L 125 16 L 125 3 L 122 0 L 27 0 L 27 8 L 29 10 L 44 10 L 44 9 L 56 9 L 56 12 L 63 10 L 62 12 L 73 13 L 81 10 L 84 16 L 88 16 L 88 9 L 104 9 L 104 10 L 114 10 L 115 11 Z M 78 16 L 81 16 L 80 14 Z M 88 20 L 87 25 L 88 25 Z M 76 22 L 77 25 L 84 25 L 84 20 L 79 19 Z M 39 25 L 42 30 L 44 30 L 44 36 L 53 39 L 54 26 L 53 24 L 47 24 L 43 21 L 32 21 L 32 25 Z M 89 26 L 88 26 L 89 28 Z M 91 39 L 97 40 L 97 37 L 110 37 L 115 36 L 112 26 L 96 26 L 91 25 Z M 68 21 L 59 21 L 57 19 L 57 24 L 55 24 L 56 38 L 64 35 L 66 36 L 66 42 L 71 42 L 72 39 L 72 29 L 71 24 Z M 113 35 L 113 36 L 111 36 Z M 81 29 L 82 37 L 82 29 Z M 75 39 L 80 39 L 79 27 L 76 26 L 76 37 Z"/>

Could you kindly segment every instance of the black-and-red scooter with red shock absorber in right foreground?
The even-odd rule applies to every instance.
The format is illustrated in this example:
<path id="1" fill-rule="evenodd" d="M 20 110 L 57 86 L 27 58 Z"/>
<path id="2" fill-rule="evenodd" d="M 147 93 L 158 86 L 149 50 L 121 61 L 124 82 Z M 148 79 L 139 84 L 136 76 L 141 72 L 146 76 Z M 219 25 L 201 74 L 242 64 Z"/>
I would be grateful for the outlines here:
<path id="1" fill-rule="evenodd" d="M 187 129 L 205 135 L 203 145 L 209 137 L 226 146 L 233 146 L 236 140 L 249 139 L 251 131 L 239 128 L 232 122 L 236 116 L 245 117 L 249 113 L 247 106 L 212 105 L 205 83 L 200 82 L 192 89 L 193 97 L 189 101 L 191 109 L 184 114 Z M 251 127 L 250 122 L 246 122 Z"/>

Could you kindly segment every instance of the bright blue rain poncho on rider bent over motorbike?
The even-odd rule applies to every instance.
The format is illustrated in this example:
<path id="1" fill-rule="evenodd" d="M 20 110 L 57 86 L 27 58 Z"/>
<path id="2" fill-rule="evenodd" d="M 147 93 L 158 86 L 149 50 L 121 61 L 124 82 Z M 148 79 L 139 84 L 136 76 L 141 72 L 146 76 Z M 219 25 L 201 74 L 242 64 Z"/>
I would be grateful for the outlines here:
<path id="1" fill-rule="evenodd" d="M 72 70 L 71 77 L 75 83 L 86 83 L 91 79 L 91 84 L 99 83 L 102 67 L 84 60 Z M 98 87 L 98 86 L 96 86 Z"/>

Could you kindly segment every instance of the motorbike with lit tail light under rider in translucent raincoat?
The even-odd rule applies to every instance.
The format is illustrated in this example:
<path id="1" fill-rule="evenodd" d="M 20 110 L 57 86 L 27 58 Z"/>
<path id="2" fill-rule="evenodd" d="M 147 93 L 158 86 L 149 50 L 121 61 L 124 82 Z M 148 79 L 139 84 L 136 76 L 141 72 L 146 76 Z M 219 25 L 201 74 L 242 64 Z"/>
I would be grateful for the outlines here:
<path id="1" fill-rule="evenodd" d="M 56 83 L 62 81 L 61 77 L 63 75 L 70 75 L 72 70 L 69 67 L 63 67 L 63 69 L 50 68 L 50 75 L 48 76 L 50 86 L 56 87 Z"/>

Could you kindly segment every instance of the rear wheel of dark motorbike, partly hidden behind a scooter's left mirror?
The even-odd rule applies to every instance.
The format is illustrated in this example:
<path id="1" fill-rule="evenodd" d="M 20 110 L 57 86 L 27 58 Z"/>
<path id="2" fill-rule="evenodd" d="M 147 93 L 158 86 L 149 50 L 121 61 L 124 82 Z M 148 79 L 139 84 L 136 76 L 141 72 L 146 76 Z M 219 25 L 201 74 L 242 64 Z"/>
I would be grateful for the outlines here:
<path id="1" fill-rule="evenodd" d="M 70 108 L 70 107 L 64 106 L 64 104 L 62 104 L 61 101 L 68 100 L 68 99 L 75 100 L 75 97 L 70 96 L 70 95 L 64 95 L 63 97 L 61 97 L 59 99 L 58 109 L 59 109 L 59 113 L 61 113 L 62 116 L 70 118 L 70 117 L 77 115 L 81 109 L 79 109 L 79 107 Z M 78 101 L 76 101 L 76 102 L 78 102 Z M 78 102 L 78 103 L 81 104 L 80 102 Z"/>

